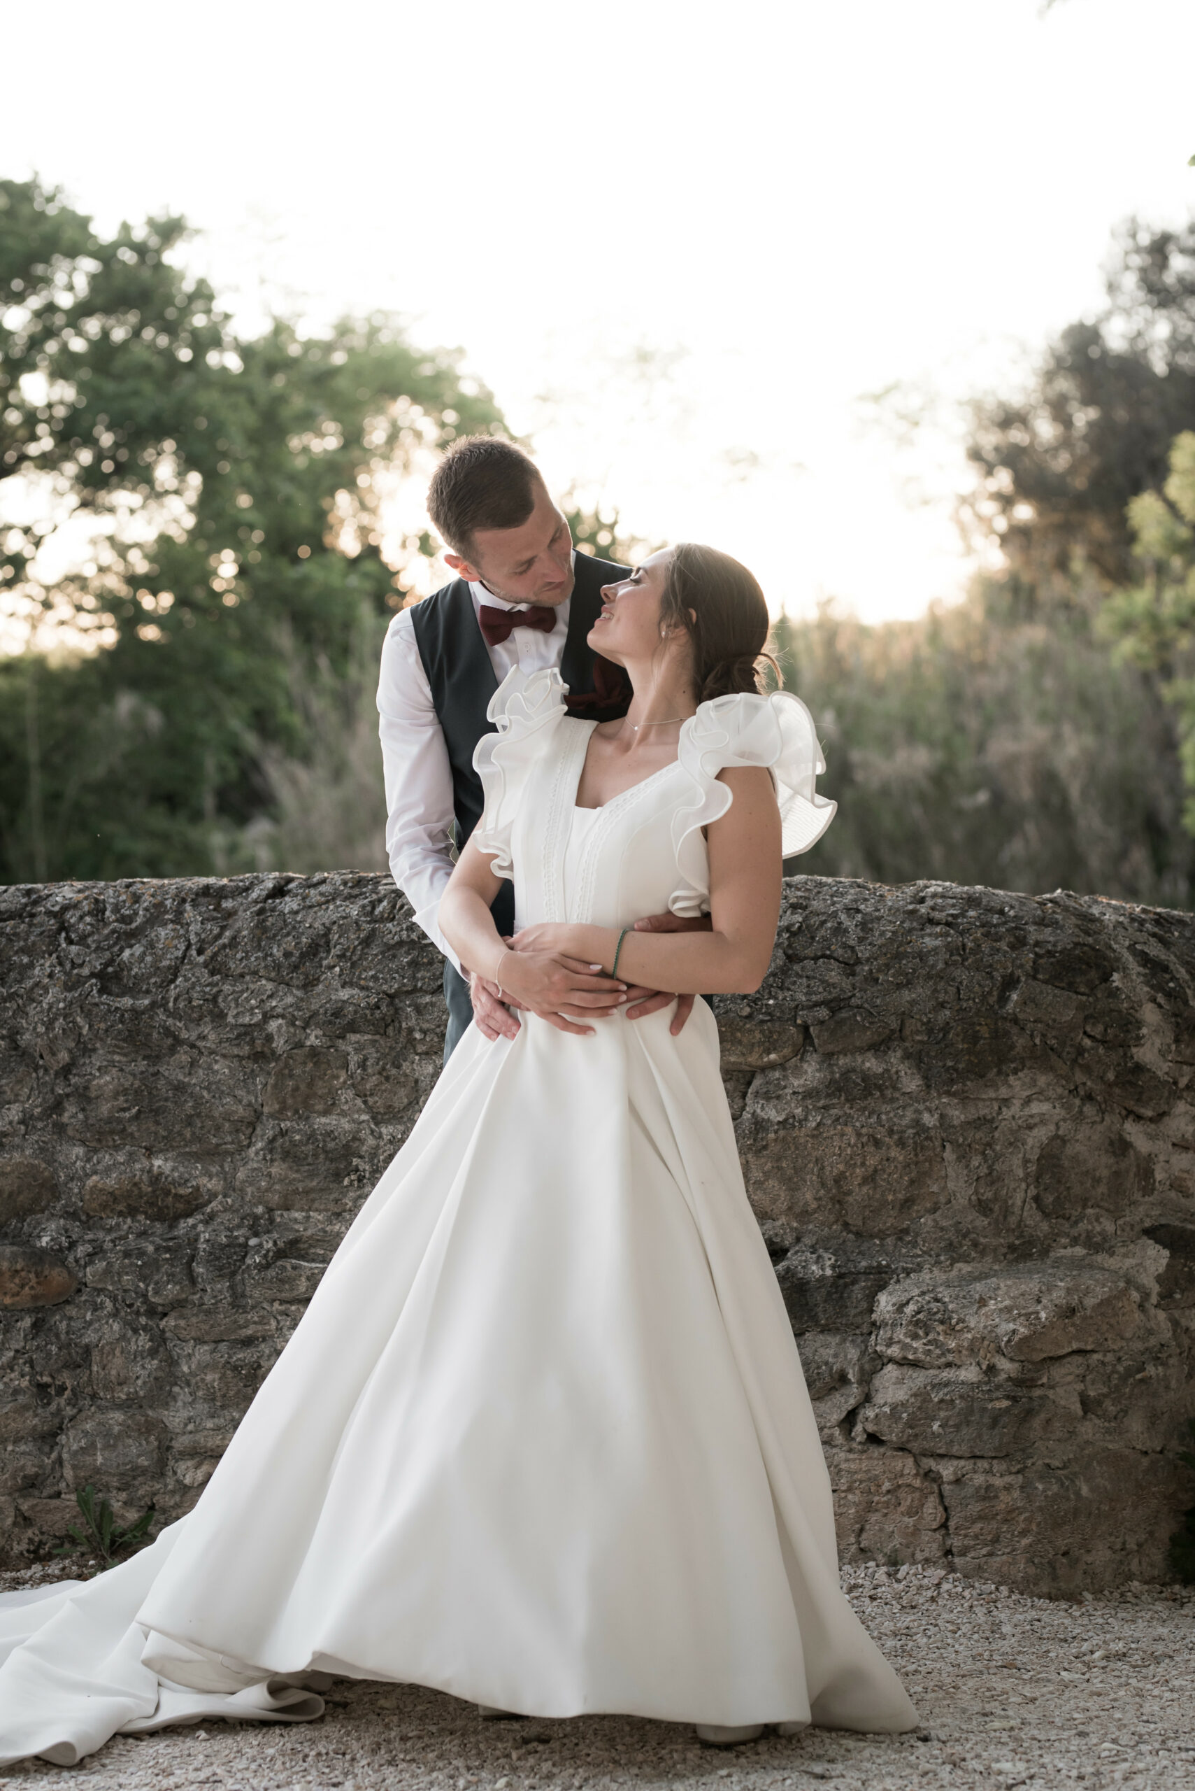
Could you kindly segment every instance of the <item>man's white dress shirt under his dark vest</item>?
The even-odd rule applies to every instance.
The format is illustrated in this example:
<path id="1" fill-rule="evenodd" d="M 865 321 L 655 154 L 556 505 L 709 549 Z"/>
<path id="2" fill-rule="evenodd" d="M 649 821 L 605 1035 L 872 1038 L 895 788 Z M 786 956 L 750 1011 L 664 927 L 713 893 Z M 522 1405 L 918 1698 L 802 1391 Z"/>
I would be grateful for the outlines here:
<path id="1" fill-rule="evenodd" d="M 528 607 L 503 602 L 483 584 L 470 584 L 469 593 L 474 613 L 483 604 L 490 609 Z M 515 627 L 497 647 L 487 643 L 499 684 L 515 666 L 521 672 L 538 672 L 560 664 L 569 632 L 569 607 L 571 600 L 556 607 L 556 625 L 551 632 Z M 440 897 L 453 874 L 453 767 L 419 656 L 410 609 L 401 609 L 386 629 L 377 715 L 386 777 L 386 856 L 394 881 L 433 946 L 460 969 L 456 953 L 438 926 Z"/>

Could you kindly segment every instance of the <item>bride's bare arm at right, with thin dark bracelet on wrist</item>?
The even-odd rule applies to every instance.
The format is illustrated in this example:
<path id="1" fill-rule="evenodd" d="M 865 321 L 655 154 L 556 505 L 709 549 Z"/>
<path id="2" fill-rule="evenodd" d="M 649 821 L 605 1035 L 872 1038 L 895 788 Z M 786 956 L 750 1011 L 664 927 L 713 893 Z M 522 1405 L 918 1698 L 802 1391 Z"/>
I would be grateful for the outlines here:
<path id="1" fill-rule="evenodd" d="M 710 931 L 623 938 L 619 976 L 678 994 L 751 994 L 771 962 L 780 919 L 780 811 L 766 770 L 725 770 L 733 802 L 708 829 Z M 608 926 L 533 928 L 528 942 L 610 969 L 619 935 Z"/>

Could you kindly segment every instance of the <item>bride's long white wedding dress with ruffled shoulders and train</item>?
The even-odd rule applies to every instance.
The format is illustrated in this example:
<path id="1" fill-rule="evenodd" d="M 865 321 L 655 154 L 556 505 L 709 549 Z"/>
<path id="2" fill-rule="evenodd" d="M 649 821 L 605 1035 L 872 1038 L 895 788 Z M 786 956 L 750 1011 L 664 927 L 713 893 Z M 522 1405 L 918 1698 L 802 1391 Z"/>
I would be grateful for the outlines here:
<path id="1" fill-rule="evenodd" d="M 478 840 L 519 924 L 708 904 L 717 772 L 784 851 L 834 806 L 794 697 L 719 697 L 578 810 L 592 722 L 513 672 Z M 309 1719 L 333 1673 L 531 1716 L 905 1730 L 839 1590 L 830 1483 L 698 1001 L 470 1028 L 195 1510 L 86 1583 L 0 1598 L 0 1764 L 120 1732 Z"/>

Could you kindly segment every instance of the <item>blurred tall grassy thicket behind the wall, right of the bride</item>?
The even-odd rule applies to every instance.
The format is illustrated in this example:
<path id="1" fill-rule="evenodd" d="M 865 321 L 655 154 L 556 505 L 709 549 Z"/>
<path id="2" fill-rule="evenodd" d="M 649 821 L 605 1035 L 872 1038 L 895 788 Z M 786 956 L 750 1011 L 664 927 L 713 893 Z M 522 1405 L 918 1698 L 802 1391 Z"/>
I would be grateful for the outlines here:
<path id="1" fill-rule="evenodd" d="M 918 621 L 785 618 L 775 647 L 839 802 L 796 869 L 1191 904 L 1170 718 L 1081 613 L 1027 621 L 984 578 Z"/>

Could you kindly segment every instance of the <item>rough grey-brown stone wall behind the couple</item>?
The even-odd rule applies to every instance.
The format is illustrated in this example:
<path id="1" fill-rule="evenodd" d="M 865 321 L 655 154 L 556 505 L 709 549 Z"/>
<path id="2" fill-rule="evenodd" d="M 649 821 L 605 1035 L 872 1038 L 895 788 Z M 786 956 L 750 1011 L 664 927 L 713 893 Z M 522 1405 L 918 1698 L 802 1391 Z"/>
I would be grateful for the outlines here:
<path id="1" fill-rule="evenodd" d="M 440 1060 L 379 876 L 0 890 L 0 1549 L 197 1497 Z M 1161 1578 L 1195 1488 L 1195 915 L 792 878 L 719 999 L 843 1549 Z"/>

